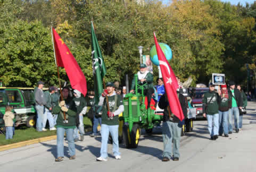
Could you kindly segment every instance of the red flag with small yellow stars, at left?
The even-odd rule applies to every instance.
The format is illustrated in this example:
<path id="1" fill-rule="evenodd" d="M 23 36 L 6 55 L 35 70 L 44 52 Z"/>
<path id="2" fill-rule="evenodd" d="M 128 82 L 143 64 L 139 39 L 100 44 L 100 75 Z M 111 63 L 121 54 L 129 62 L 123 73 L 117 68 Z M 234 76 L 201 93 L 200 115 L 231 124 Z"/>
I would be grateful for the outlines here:
<path id="1" fill-rule="evenodd" d="M 84 96 L 87 93 L 87 85 L 84 73 L 77 64 L 76 59 L 73 57 L 68 46 L 61 39 L 60 35 L 52 28 L 55 63 L 56 66 L 65 68 L 69 77 L 71 87 L 79 90 Z"/>

